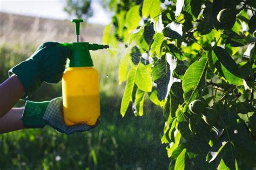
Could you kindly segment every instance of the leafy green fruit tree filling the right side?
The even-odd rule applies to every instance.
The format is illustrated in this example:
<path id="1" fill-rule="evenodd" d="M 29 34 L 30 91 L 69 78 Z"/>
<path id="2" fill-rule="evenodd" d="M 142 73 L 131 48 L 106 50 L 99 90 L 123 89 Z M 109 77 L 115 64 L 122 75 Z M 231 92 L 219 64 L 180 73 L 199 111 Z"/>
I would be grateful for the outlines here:
<path id="1" fill-rule="evenodd" d="M 163 108 L 169 169 L 255 167 L 254 1 L 111 0 L 109 8 L 104 42 L 130 49 L 119 65 L 120 112 L 132 102 L 143 116 L 147 95 Z"/>

